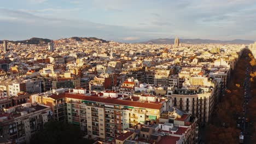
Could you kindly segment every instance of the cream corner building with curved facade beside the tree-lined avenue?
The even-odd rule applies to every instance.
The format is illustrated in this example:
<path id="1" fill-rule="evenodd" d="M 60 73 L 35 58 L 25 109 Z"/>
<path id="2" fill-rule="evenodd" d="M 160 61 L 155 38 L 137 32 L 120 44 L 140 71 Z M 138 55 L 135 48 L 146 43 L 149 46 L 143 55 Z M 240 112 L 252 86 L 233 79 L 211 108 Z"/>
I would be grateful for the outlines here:
<path id="1" fill-rule="evenodd" d="M 171 95 L 174 106 L 189 112 L 198 118 L 200 123 L 207 123 L 212 115 L 220 93 L 216 87 L 190 86 L 187 89 L 176 89 Z"/>

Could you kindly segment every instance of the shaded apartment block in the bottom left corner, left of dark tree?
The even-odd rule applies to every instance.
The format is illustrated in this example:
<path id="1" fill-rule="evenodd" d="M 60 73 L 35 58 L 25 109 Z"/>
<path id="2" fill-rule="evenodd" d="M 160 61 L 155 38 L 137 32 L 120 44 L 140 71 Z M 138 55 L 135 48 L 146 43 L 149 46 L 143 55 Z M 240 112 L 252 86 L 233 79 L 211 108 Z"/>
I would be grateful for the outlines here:
<path id="1" fill-rule="evenodd" d="M 14 143 L 30 143 L 31 137 L 50 119 L 49 106 L 26 103 L 9 107 L 0 115 L 0 135 Z"/>

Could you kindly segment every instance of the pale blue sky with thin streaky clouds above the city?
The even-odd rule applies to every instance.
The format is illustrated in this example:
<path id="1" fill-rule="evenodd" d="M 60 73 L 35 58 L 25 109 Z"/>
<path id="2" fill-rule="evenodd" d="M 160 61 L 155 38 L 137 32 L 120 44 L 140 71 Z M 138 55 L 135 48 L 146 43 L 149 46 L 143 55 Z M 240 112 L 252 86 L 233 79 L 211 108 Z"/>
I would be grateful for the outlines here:
<path id="1" fill-rule="evenodd" d="M 256 40 L 256 0 L 8 0 L 0 39 Z"/>

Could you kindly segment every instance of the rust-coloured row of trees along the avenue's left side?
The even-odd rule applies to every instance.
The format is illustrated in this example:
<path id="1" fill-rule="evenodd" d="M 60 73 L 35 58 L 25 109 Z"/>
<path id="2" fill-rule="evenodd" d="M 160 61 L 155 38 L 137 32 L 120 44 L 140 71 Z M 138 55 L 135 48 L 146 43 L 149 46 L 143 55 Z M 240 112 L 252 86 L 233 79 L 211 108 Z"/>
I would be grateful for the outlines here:
<path id="1" fill-rule="evenodd" d="M 237 143 L 240 130 L 236 128 L 237 115 L 242 113 L 243 80 L 245 80 L 246 64 L 248 64 L 248 50 L 244 50 L 232 71 L 228 88 L 224 97 L 216 107 L 212 120 L 207 127 L 206 140 L 208 143 Z"/>

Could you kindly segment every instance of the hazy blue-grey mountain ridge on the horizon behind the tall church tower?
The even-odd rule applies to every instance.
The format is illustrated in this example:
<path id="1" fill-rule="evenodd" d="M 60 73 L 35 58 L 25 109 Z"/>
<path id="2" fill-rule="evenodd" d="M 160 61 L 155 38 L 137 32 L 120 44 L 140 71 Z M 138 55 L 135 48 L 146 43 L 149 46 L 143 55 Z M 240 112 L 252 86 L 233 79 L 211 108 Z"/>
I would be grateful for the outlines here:
<path id="1" fill-rule="evenodd" d="M 180 43 L 185 44 L 253 44 L 252 40 L 211 40 L 211 39 L 179 39 Z M 174 39 L 153 39 L 141 42 L 141 44 L 174 44 Z"/>

